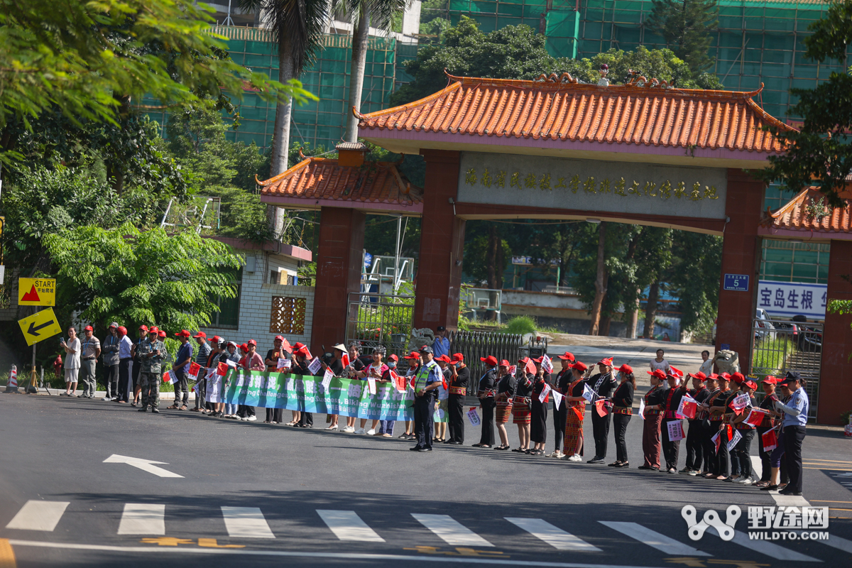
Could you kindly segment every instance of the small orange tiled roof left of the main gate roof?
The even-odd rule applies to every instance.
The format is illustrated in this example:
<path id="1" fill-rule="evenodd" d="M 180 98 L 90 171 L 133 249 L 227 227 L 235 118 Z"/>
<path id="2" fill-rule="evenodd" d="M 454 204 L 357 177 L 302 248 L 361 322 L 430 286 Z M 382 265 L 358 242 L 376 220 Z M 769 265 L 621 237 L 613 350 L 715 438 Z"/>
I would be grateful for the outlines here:
<path id="1" fill-rule="evenodd" d="M 337 158 L 305 158 L 284 173 L 257 183 L 262 197 L 403 206 L 423 201 L 423 190 L 412 186 L 392 162 L 365 162 L 354 167 L 337 164 Z"/>

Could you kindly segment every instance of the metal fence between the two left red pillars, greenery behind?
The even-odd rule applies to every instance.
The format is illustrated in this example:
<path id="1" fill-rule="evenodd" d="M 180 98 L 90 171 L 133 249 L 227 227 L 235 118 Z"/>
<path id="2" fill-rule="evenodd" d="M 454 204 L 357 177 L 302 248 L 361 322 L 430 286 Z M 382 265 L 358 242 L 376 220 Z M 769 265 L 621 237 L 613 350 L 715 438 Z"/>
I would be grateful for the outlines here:
<path id="1" fill-rule="evenodd" d="M 348 301 L 346 344 L 360 341 L 362 353 L 383 345 L 388 355 L 396 353 L 401 358 L 408 354 L 413 317 L 412 296 L 353 292 Z"/>

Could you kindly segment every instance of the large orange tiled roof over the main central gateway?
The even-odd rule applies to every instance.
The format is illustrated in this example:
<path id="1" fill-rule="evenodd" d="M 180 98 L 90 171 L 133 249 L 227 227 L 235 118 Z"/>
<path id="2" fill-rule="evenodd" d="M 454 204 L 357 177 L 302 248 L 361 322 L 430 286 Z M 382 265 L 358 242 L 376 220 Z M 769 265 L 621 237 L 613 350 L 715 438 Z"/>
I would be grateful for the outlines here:
<path id="1" fill-rule="evenodd" d="M 740 93 L 449 77 L 452 83 L 446 89 L 425 99 L 359 114 L 361 134 L 385 129 L 780 152 L 780 142 L 760 127 L 793 130 L 751 100 L 760 90 Z"/>

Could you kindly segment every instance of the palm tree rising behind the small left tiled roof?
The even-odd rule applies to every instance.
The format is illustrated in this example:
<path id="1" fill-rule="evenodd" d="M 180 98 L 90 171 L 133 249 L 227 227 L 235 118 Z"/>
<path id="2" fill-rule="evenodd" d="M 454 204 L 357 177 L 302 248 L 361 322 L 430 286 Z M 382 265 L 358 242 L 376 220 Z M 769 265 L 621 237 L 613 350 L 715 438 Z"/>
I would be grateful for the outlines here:
<path id="1" fill-rule="evenodd" d="M 278 43 L 279 83 L 298 79 L 320 47 L 329 19 L 329 0 L 239 0 L 239 7 L 255 11 L 272 30 Z M 291 111 L 289 99 L 275 109 L 271 175 L 279 175 L 287 169 Z M 279 227 L 277 221 L 276 227 Z"/>

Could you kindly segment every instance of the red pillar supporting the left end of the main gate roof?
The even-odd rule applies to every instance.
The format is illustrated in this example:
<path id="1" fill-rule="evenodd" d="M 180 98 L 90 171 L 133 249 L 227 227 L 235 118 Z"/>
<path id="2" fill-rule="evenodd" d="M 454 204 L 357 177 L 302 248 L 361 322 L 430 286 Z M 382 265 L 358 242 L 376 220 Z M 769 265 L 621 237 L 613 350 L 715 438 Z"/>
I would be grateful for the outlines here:
<path id="1" fill-rule="evenodd" d="M 423 150 L 423 218 L 420 221 L 420 258 L 414 327 L 435 330 L 458 325 L 458 295 L 462 284 L 464 220 L 454 213 L 458 193 L 459 152 Z"/>

